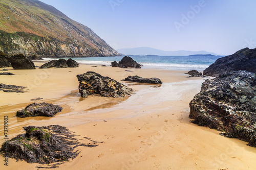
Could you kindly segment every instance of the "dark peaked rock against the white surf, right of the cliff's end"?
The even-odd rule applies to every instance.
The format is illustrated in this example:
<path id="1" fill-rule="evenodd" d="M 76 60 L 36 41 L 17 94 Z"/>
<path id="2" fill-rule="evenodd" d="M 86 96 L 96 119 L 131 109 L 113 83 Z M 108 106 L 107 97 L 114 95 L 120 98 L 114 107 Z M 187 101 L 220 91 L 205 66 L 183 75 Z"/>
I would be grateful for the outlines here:
<path id="1" fill-rule="evenodd" d="M 141 68 L 142 65 L 134 61 L 131 57 L 124 56 L 118 63 L 116 61 L 111 62 L 111 66 L 120 68 Z"/>

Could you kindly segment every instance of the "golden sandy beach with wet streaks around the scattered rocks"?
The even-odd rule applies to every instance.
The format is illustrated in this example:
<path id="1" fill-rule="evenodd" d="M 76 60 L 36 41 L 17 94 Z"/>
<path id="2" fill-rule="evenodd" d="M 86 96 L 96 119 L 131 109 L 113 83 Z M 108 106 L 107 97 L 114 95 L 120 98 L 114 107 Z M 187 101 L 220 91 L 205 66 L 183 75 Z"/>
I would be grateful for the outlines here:
<path id="1" fill-rule="evenodd" d="M 40 66 L 42 62 L 35 62 Z M 78 147 L 81 153 L 56 169 L 256 169 L 256 148 L 247 142 L 225 138 L 220 132 L 189 122 L 189 102 L 200 91 L 203 78 L 187 78 L 189 71 L 129 69 L 118 67 L 48 68 L 14 70 L 0 83 L 26 86 L 24 93 L 0 91 L 0 143 L 4 140 L 4 116 L 8 115 L 8 138 L 25 126 L 60 125 L 75 132 L 83 143 L 97 141 L 94 148 Z M 95 71 L 136 90 L 130 98 L 80 98 L 76 75 Z M 121 81 L 127 76 L 157 77 L 162 85 Z M 54 117 L 15 116 L 17 110 L 36 103 L 60 105 Z M 90 140 L 89 140 L 90 139 Z M 42 169 L 38 163 L 0 157 L 0 169 Z"/>

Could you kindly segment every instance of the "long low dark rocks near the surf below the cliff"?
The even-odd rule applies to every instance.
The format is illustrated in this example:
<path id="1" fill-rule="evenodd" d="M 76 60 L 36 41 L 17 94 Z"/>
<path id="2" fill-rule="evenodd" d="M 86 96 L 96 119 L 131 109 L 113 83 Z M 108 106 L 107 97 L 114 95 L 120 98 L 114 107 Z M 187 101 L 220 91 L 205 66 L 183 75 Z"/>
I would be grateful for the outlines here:
<path id="1" fill-rule="evenodd" d="M 48 63 L 45 63 L 41 65 L 39 68 L 67 68 L 67 67 L 79 67 L 79 64 L 72 60 L 71 58 L 68 60 L 65 59 L 58 59 L 58 60 L 52 60 Z"/>

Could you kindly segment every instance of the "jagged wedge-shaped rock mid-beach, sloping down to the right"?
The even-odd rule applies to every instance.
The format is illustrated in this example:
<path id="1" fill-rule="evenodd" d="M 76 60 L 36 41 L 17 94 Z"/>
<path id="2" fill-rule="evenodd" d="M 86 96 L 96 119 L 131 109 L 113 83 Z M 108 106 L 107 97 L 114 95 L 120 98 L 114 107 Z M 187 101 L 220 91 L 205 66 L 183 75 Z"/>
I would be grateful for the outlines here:
<path id="1" fill-rule="evenodd" d="M 88 71 L 83 75 L 77 75 L 77 79 L 82 98 L 86 98 L 88 95 L 125 98 L 134 93 L 133 89 L 93 71 Z"/>

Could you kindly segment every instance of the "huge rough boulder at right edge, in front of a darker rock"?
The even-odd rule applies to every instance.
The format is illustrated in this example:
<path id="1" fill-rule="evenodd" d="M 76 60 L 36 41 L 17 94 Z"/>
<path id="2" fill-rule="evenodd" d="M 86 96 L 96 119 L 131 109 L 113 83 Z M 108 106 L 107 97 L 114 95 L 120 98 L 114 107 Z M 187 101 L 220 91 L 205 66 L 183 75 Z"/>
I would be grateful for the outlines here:
<path id="1" fill-rule="evenodd" d="M 245 70 L 226 73 L 202 84 L 190 102 L 193 122 L 223 131 L 256 147 L 256 75 Z"/>

